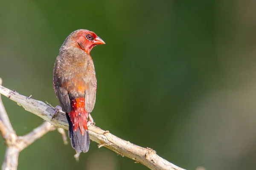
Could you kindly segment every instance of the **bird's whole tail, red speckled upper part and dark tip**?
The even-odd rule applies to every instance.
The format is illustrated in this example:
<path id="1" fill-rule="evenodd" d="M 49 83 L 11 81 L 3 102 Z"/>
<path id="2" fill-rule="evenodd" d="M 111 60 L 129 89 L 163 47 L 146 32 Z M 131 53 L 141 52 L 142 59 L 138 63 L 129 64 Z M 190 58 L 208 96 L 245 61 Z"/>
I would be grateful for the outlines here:
<path id="1" fill-rule="evenodd" d="M 69 137 L 76 153 L 89 150 L 90 138 L 87 128 L 88 114 L 84 108 L 84 98 L 71 100 L 71 111 L 66 113 L 69 124 Z"/>

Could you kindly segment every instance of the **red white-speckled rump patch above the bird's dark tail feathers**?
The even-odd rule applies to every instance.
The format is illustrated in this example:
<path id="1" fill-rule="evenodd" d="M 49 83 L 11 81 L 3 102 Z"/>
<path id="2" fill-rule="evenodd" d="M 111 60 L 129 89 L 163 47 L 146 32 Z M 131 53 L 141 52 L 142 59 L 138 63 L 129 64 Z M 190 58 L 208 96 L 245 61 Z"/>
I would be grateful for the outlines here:
<path id="1" fill-rule="evenodd" d="M 85 130 L 88 131 L 87 128 L 87 119 L 88 113 L 84 108 L 85 105 L 84 98 L 76 98 L 72 99 L 71 102 L 71 111 L 68 113 L 70 117 L 70 121 L 73 126 L 73 131 L 76 131 L 78 128 L 81 131 L 82 136 L 86 134 Z"/>

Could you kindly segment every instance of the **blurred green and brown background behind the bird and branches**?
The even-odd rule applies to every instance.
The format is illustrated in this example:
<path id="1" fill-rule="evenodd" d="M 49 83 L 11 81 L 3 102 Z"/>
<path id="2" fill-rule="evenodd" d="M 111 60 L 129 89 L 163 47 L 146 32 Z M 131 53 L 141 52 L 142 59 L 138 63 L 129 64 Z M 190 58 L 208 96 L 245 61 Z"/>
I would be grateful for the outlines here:
<path id="1" fill-rule="evenodd" d="M 96 125 L 195 170 L 256 169 L 256 1 L 0 0 L 0 77 L 58 105 L 52 69 L 74 30 L 94 31 Z M 18 135 L 43 120 L 3 97 Z M 0 162 L 5 145 L 0 143 Z M 50 132 L 20 153 L 19 170 L 147 170 L 91 142 Z"/>

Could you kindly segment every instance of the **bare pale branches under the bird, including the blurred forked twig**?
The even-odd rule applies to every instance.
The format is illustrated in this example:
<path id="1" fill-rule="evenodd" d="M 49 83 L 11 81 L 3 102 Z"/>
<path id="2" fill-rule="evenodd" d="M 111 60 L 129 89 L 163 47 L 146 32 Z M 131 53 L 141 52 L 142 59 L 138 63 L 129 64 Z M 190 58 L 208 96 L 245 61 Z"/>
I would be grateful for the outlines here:
<path id="1" fill-rule="evenodd" d="M 61 128 L 68 130 L 68 122 L 64 114 L 57 114 L 55 118 L 52 119 L 55 109 L 49 107 L 44 102 L 31 99 L 1 86 L 1 81 L 2 80 L 0 79 L 0 94 L 3 94 L 14 102 L 17 102 L 26 111 L 34 113 L 47 121 L 27 135 L 17 136 L 15 130 L 12 128 L 0 98 L 0 134 L 2 135 L 7 147 L 2 169 L 16 170 L 18 156 L 21 150 L 35 142 L 36 139 L 39 139 L 45 133 L 55 130 L 56 127 L 60 127 L 58 128 L 58 131 L 61 131 Z M 135 162 L 147 166 L 151 170 L 184 170 L 183 168 L 177 167 L 175 164 L 161 158 L 150 148 L 144 148 L 132 144 L 92 124 L 88 125 L 88 130 L 90 139 L 97 142 L 99 147 L 107 147 L 122 156 L 131 158 Z M 62 134 L 64 133 L 62 132 Z"/>

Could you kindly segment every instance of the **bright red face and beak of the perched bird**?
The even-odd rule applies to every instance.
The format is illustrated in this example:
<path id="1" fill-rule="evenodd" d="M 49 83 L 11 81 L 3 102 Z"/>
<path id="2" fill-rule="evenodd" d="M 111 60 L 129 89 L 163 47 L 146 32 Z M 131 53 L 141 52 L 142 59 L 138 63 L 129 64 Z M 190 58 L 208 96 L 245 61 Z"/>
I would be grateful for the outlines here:
<path id="1" fill-rule="evenodd" d="M 76 46 L 90 54 L 92 48 L 98 44 L 105 44 L 105 42 L 98 37 L 94 32 L 88 30 L 80 30 L 75 38 Z"/>

